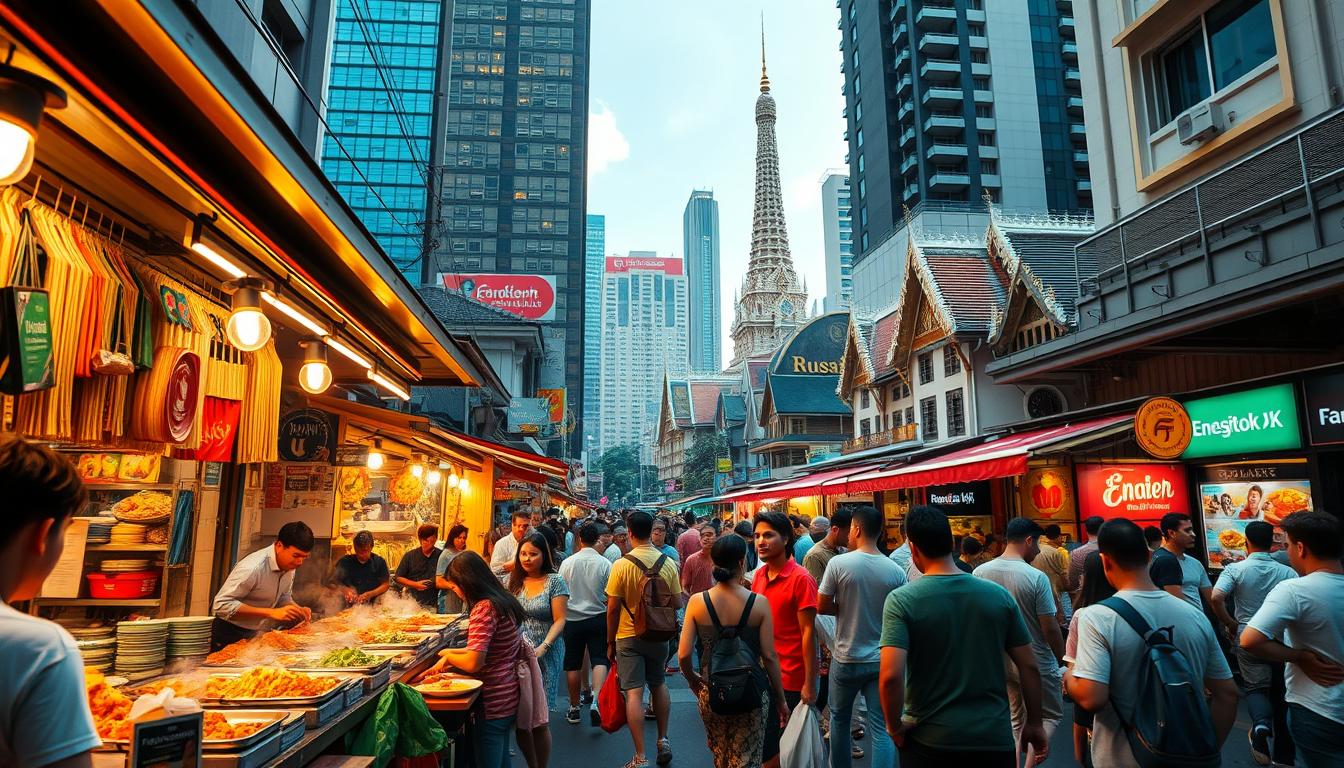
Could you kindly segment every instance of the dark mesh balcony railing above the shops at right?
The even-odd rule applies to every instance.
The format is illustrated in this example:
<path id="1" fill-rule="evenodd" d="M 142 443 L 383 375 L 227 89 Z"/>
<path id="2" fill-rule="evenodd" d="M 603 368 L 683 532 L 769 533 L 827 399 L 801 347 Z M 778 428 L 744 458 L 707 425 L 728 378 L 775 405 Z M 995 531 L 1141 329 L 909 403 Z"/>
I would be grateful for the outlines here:
<path id="1" fill-rule="evenodd" d="M 1086 324 L 1152 304 L 1149 292 L 1140 292 L 1145 281 L 1156 278 L 1160 285 L 1152 293 L 1169 301 L 1238 274 L 1224 262 L 1219 262 L 1223 272 L 1215 269 L 1224 252 L 1232 252 L 1245 270 L 1241 262 L 1259 269 L 1304 249 L 1322 249 L 1339 238 L 1332 229 L 1340 221 L 1335 211 L 1341 199 L 1344 109 L 1336 109 L 1078 243 L 1081 304 L 1095 304 L 1124 286 L 1118 305 L 1107 299 L 1102 307 L 1081 307 L 1090 317 Z M 1306 239 L 1312 242 L 1294 245 L 1296 239 L 1271 237 L 1300 221 L 1310 225 Z M 1289 246 L 1286 256 L 1270 253 L 1279 245 Z M 1184 264 L 1203 276 L 1198 286 L 1185 286 L 1172 274 Z M 1180 269 L 1183 274 L 1189 270 Z"/>

